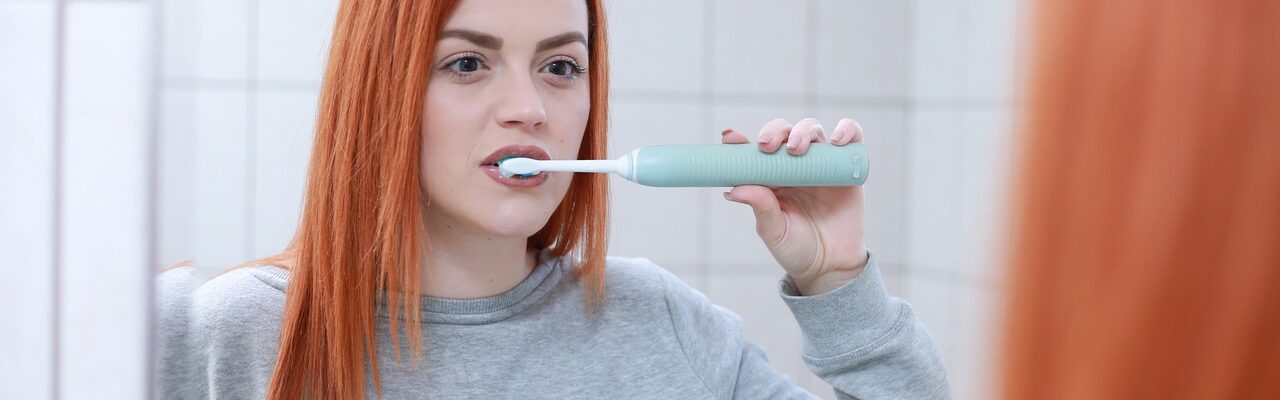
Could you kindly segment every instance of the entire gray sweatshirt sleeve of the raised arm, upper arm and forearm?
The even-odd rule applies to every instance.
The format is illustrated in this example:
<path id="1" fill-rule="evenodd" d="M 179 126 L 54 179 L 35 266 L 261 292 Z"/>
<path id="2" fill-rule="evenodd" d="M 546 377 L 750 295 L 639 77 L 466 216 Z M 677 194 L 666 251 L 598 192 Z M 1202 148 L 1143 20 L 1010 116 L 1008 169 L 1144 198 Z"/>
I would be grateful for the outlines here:
<path id="1" fill-rule="evenodd" d="M 741 317 L 663 277 L 676 338 L 713 397 L 817 399 L 745 340 Z M 874 256 L 831 292 L 800 296 L 783 278 L 780 294 L 800 324 L 805 364 L 838 399 L 950 397 L 937 349 L 910 305 L 888 296 Z"/>

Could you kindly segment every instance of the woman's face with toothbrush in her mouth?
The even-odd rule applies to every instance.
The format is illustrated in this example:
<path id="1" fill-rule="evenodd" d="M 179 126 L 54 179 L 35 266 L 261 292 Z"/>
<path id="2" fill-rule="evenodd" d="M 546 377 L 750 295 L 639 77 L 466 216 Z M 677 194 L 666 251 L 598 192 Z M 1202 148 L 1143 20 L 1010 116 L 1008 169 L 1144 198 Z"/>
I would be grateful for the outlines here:
<path id="1" fill-rule="evenodd" d="M 590 112 L 586 28 L 582 0 L 458 5 L 439 36 L 422 110 L 426 218 L 499 237 L 529 237 L 547 223 L 572 176 L 500 178 L 489 163 L 512 145 L 520 155 L 577 159 Z"/>

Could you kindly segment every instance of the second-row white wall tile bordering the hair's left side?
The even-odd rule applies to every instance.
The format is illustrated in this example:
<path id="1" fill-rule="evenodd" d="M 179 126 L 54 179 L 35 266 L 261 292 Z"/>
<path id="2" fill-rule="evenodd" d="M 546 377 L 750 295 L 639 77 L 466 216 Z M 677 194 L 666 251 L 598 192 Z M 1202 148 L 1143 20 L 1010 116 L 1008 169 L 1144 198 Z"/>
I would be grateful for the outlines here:
<path id="1" fill-rule="evenodd" d="M 279 254 L 293 238 L 302 215 L 316 108 L 316 90 L 257 92 L 250 258 Z"/>

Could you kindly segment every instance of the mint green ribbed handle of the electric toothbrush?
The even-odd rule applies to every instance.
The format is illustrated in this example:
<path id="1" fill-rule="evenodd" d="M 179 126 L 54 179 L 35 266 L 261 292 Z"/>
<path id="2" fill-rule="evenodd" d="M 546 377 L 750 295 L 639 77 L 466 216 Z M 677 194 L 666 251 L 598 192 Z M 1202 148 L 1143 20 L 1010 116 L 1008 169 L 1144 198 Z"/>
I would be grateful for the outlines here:
<path id="1" fill-rule="evenodd" d="M 863 144 L 817 142 L 803 155 L 764 153 L 755 144 L 644 146 L 631 162 L 628 179 L 663 187 L 854 186 L 867 182 L 870 165 Z"/>

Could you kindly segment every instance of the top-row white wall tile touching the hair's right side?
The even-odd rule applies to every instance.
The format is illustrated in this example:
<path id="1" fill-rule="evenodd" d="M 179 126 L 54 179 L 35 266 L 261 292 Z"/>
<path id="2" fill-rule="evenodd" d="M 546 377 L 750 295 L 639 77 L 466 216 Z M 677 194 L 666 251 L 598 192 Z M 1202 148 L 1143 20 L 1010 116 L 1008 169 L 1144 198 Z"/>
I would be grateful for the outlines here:
<path id="1" fill-rule="evenodd" d="M 607 1 L 613 90 L 703 92 L 705 10 L 704 1 Z"/>

